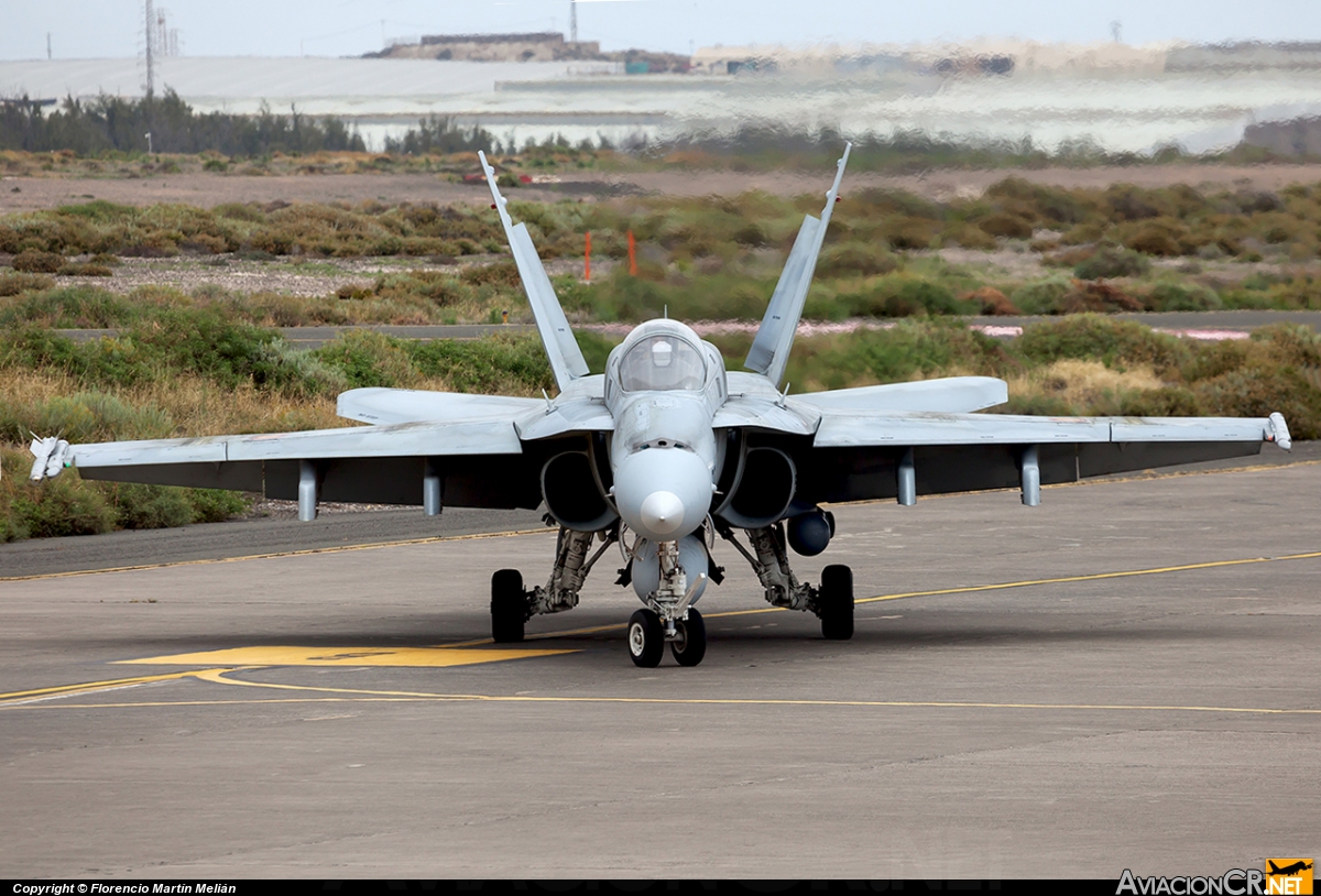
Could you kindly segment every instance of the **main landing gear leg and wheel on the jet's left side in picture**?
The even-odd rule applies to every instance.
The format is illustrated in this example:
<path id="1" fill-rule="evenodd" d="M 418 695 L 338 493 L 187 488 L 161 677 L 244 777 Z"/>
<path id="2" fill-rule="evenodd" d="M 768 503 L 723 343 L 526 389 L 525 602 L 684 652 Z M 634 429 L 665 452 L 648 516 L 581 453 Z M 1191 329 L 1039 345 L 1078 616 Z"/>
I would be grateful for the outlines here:
<path id="1" fill-rule="evenodd" d="M 588 550 L 597 535 L 601 547 L 589 558 Z M 551 579 L 531 591 L 523 589 L 523 575 L 518 570 L 498 570 L 491 576 L 491 640 L 517 644 L 523 640 L 523 625 L 538 613 L 561 613 L 577 607 L 587 574 L 617 541 L 618 526 L 601 533 L 579 533 L 560 526 Z"/>

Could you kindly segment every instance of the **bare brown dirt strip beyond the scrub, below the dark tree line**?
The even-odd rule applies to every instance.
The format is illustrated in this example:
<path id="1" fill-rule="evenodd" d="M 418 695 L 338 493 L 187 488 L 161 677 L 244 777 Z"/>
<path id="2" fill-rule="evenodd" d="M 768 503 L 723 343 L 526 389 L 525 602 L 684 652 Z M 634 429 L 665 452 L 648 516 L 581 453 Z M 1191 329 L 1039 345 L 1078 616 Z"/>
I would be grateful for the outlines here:
<path id="1" fill-rule="evenodd" d="M 668 196 L 737 194 L 766 190 L 797 196 L 824 190 L 828 170 L 811 172 L 631 172 L 577 173 L 559 184 L 526 186 L 527 200 L 604 198 L 637 193 Z M 1276 190 L 1288 184 L 1321 181 L 1321 165 L 1140 165 L 1132 168 L 1042 168 L 1038 170 L 931 170 L 921 174 L 851 173 L 849 189 L 904 189 L 935 200 L 976 196 L 1008 176 L 1058 186 L 1104 188 L 1129 182 L 1140 186 L 1190 184 L 1201 189 Z M 572 177 L 572 178 L 571 178 Z M 489 202 L 481 184 L 453 184 L 432 174 L 215 174 L 184 173 L 140 178 L 5 177 L 0 182 L 0 213 L 49 209 L 91 198 L 124 205 L 184 202 L 210 207 L 222 202 Z"/>

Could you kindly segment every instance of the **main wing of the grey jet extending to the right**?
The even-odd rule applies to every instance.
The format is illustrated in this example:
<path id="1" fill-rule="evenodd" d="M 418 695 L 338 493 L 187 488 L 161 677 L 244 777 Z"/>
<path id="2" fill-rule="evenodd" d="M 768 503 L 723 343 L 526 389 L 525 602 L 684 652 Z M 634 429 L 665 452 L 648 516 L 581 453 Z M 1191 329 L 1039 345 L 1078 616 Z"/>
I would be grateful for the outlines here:
<path id="1" fill-rule="evenodd" d="M 785 433 L 789 435 L 787 432 Z M 1284 418 L 1044 418 L 824 410 L 810 444 L 785 440 L 811 502 L 1013 488 L 1291 447 Z M 910 489 L 910 494 L 911 494 Z"/>

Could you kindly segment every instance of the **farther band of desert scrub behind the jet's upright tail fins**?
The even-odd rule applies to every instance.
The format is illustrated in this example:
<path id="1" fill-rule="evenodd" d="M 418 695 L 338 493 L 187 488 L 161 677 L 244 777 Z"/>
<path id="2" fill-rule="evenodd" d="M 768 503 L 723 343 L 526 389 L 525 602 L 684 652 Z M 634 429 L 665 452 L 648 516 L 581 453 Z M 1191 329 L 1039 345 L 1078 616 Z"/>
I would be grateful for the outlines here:
<path id="1" fill-rule="evenodd" d="M 757 318 L 802 215 L 819 210 L 812 197 L 756 192 L 511 206 L 580 321 L 637 321 L 666 307 L 687 318 Z M 597 267 L 590 285 L 580 283 L 587 233 Z M 629 233 L 635 272 L 626 263 Z M 1318 234 L 1321 185 L 1203 196 L 1185 186 L 1070 190 L 1009 178 L 948 202 L 863 189 L 831 222 L 804 316 L 1316 309 Z M 107 278 L 123 256 L 180 256 L 217 270 L 234 259 L 312 270 L 336 263 L 317 259 L 373 258 L 386 270 L 317 299 L 243 296 L 214 284 L 192 297 L 284 326 L 486 322 L 503 311 L 526 322 L 506 251 L 498 218 L 483 206 L 94 201 L 0 215 L 0 266 L 12 268 L 0 267 L 0 297 L 49 291 L 52 275 Z"/>

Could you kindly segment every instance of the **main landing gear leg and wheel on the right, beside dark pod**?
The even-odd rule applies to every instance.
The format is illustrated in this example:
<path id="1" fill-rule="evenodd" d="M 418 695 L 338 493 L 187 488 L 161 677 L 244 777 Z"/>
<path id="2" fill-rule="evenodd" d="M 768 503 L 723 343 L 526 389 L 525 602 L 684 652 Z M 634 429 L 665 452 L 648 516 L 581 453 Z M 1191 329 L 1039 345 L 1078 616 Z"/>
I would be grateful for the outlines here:
<path id="1" fill-rule="evenodd" d="M 738 543 L 727 523 L 720 523 L 716 531 L 752 564 L 761 587 L 766 589 L 766 603 L 815 613 L 822 621 L 822 636 L 830 641 L 853 637 L 853 572 L 847 566 L 822 570 L 820 588 L 814 588 L 799 581 L 789 567 L 783 523 L 744 530 L 752 551 Z"/>

